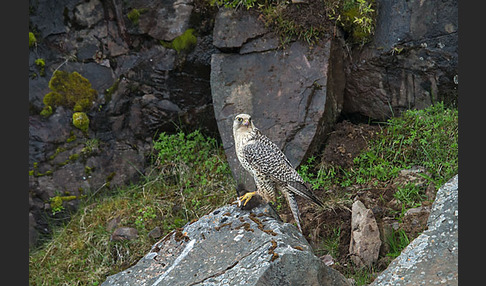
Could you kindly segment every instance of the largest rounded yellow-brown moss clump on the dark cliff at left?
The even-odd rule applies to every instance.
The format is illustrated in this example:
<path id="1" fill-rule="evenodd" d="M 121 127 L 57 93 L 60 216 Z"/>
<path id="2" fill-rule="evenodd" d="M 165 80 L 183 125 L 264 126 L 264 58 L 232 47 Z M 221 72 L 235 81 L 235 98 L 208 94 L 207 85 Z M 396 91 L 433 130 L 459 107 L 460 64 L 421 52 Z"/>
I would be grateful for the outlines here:
<path id="1" fill-rule="evenodd" d="M 49 81 L 49 88 L 52 91 L 44 96 L 43 102 L 52 109 L 65 106 L 75 112 L 87 111 L 93 106 L 97 96 L 89 80 L 77 72 L 54 72 Z M 44 114 L 50 115 L 47 109 Z"/>

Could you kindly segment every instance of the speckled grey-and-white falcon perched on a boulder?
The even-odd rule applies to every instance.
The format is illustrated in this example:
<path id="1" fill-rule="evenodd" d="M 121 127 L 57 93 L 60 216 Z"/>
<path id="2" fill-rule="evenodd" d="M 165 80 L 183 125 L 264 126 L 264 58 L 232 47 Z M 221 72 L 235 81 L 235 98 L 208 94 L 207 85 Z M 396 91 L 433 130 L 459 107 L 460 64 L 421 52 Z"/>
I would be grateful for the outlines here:
<path id="1" fill-rule="evenodd" d="M 306 186 L 282 150 L 255 127 L 250 115 L 242 113 L 235 116 L 233 137 L 236 156 L 242 167 L 252 175 L 256 185 L 256 191 L 247 192 L 238 201 L 246 205 L 258 194 L 265 201 L 274 202 L 278 190 L 284 195 L 302 233 L 296 196 L 304 197 L 318 206 L 323 206 L 322 201 Z"/>

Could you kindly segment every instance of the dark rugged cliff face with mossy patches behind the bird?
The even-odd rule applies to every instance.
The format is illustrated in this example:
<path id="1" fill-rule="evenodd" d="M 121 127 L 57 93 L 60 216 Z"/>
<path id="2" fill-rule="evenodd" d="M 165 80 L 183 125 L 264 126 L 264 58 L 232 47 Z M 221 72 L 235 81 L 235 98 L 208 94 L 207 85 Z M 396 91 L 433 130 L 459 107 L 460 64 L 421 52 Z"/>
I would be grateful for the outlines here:
<path id="1" fill-rule="evenodd" d="M 158 132 L 220 136 L 251 188 L 234 161 L 234 113 L 253 113 L 297 166 L 343 114 L 383 119 L 457 97 L 457 1 L 376 1 L 375 37 L 354 48 L 339 33 L 282 48 L 254 11 L 204 3 L 29 2 L 31 244 L 49 232 L 44 214 L 62 219 L 80 197 L 136 181 Z M 79 74 L 94 100 L 54 96 L 56 71 Z"/>

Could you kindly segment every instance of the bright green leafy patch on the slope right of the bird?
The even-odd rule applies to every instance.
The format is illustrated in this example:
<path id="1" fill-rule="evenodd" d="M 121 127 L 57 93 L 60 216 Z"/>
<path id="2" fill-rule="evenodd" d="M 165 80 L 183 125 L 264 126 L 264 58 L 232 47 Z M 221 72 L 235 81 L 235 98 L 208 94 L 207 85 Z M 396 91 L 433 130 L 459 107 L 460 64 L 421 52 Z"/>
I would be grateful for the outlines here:
<path id="1" fill-rule="evenodd" d="M 423 110 L 408 110 L 402 116 L 383 123 L 377 139 L 368 150 L 354 158 L 354 167 L 336 169 L 333 166 L 301 165 L 299 173 L 314 189 L 339 184 L 351 185 L 386 183 L 403 169 L 422 166 L 431 174 L 426 177 L 437 188 L 458 171 L 458 111 L 437 103 Z M 317 169 L 317 170 L 316 170 Z M 314 172 L 314 170 L 316 170 Z M 407 189 L 408 188 L 408 189 Z M 412 186 L 403 186 L 402 194 L 416 193 Z M 417 202 L 420 196 L 411 199 Z M 411 202 L 411 201 L 409 201 Z"/>

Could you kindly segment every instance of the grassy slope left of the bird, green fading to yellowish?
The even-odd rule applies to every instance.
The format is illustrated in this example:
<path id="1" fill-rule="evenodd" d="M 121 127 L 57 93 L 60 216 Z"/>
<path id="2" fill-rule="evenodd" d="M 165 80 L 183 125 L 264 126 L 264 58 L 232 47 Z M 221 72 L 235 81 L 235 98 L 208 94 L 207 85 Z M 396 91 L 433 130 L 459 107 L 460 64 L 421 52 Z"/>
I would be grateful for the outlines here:
<path id="1" fill-rule="evenodd" d="M 30 285 L 100 285 L 108 275 L 141 259 L 162 235 L 234 199 L 235 183 L 216 140 L 196 131 L 165 134 L 154 142 L 153 168 L 138 184 L 112 193 L 88 194 L 52 238 L 30 252 Z M 106 226 L 138 230 L 131 241 L 110 241 Z"/>

